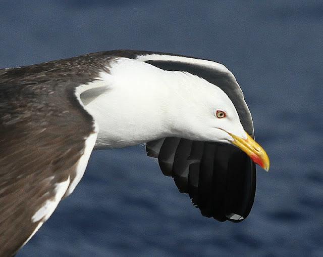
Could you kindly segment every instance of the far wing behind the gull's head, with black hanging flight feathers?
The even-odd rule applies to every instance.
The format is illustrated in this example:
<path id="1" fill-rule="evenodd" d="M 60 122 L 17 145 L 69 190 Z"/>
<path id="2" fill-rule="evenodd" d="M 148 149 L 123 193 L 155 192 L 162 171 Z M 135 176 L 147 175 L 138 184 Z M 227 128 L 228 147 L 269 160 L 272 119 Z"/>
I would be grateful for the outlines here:
<path id="1" fill-rule="evenodd" d="M 160 60 L 149 60 L 150 54 L 155 53 L 138 56 L 140 59 L 144 56 L 143 61 L 158 68 L 186 71 L 220 87 L 235 105 L 245 131 L 254 137 L 250 111 L 229 70 L 194 61 L 165 60 L 171 54 L 164 53 L 157 53 L 162 55 Z M 240 149 L 229 144 L 166 138 L 147 143 L 146 150 L 149 156 L 158 158 L 164 175 L 174 178 L 180 192 L 189 194 L 203 216 L 240 222 L 249 215 L 255 196 L 256 169 Z"/>

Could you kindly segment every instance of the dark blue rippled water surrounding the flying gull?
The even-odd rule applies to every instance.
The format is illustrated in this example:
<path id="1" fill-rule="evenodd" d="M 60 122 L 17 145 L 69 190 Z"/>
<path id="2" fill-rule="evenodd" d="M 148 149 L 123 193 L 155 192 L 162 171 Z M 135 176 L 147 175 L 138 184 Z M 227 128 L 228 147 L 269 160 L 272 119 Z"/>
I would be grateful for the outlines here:
<path id="1" fill-rule="evenodd" d="M 93 152 L 17 256 L 323 256 L 321 1 L 1 1 L 0 67 L 110 49 L 224 63 L 271 157 L 242 223 L 204 218 L 142 147 Z"/>

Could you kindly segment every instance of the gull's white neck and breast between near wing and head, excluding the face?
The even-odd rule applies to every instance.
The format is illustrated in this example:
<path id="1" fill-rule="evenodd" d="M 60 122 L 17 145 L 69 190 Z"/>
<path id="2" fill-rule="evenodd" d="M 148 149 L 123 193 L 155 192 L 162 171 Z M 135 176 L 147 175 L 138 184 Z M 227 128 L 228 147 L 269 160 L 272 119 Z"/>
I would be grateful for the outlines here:
<path id="1" fill-rule="evenodd" d="M 110 73 L 102 72 L 100 80 L 82 85 L 76 93 L 98 124 L 97 148 L 183 135 L 179 117 L 183 110 L 179 109 L 186 106 L 189 113 L 190 107 L 181 99 L 187 102 L 188 95 L 198 94 L 194 80 L 203 79 L 127 58 L 119 58 L 109 69 Z"/>

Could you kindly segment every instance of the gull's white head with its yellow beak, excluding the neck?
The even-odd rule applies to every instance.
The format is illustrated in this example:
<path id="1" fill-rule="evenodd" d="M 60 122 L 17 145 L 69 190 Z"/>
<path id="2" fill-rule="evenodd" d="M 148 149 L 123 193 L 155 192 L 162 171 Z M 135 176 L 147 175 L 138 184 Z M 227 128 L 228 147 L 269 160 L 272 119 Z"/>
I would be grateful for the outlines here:
<path id="1" fill-rule="evenodd" d="M 186 85 L 181 96 L 176 96 L 174 109 L 177 110 L 177 116 L 173 119 L 175 134 L 181 137 L 184 134 L 184 137 L 192 140 L 235 145 L 268 171 L 268 155 L 244 130 L 228 95 L 219 87 L 196 76 L 190 78 L 190 83 L 192 87 Z"/>

